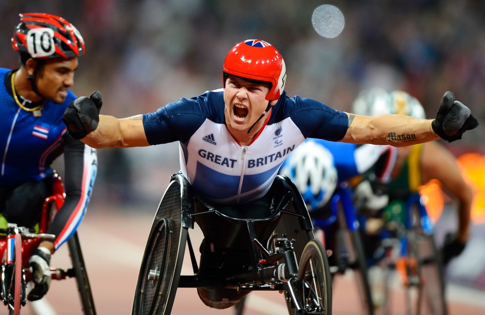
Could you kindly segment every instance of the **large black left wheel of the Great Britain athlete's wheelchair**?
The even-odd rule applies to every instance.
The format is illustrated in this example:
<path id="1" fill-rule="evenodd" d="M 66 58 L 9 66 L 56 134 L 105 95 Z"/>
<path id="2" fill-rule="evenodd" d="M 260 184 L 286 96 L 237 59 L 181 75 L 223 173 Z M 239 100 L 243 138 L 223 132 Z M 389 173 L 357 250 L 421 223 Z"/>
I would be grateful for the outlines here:
<path id="1" fill-rule="evenodd" d="M 170 314 L 188 231 L 181 224 L 180 184 L 170 183 L 160 202 L 141 262 L 132 314 Z"/>

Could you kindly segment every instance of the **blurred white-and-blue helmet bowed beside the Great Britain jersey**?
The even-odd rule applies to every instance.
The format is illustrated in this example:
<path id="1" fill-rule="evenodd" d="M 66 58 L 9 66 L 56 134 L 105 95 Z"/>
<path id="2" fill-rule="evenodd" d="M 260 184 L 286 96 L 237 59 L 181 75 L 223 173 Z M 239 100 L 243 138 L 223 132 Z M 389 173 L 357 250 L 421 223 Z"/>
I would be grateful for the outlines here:
<path id="1" fill-rule="evenodd" d="M 288 156 L 281 165 L 280 174 L 295 183 L 310 212 L 328 202 L 338 180 L 333 155 L 311 139 Z"/>

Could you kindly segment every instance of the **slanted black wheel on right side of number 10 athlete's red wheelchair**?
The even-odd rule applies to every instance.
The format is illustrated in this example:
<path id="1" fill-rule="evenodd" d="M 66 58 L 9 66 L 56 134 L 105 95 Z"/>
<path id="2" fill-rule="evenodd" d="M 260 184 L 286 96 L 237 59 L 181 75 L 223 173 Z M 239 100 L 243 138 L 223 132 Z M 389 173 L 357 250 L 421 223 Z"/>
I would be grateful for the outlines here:
<path id="1" fill-rule="evenodd" d="M 82 256 L 81 245 L 77 232 L 67 242 L 72 268 L 76 277 L 77 288 L 81 299 L 81 306 L 85 315 L 96 315 L 91 286 L 87 277 L 86 265 Z"/>

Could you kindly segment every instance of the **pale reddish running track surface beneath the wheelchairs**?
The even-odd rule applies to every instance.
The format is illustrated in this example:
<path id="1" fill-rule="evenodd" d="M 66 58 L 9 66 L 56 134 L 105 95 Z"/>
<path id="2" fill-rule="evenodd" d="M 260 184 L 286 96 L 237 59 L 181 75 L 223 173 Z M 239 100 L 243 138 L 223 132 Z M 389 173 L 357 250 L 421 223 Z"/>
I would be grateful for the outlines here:
<path id="1" fill-rule="evenodd" d="M 154 214 L 154 212 L 149 213 L 146 210 L 127 213 L 126 210 L 101 209 L 99 205 L 90 207 L 78 232 L 98 314 L 131 314 L 139 264 Z M 199 244 L 200 230 L 196 229 L 189 233 L 192 242 Z M 69 265 L 67 246 L 63 246 L 53 255 L 52 266 L 67 267 Z M 186 253 L 182 273 L 188 275 L 190 270 L 188 253 Z M 351 277 L 341 277 L 336 281 L 333 293 L 334 315 L 360 313 L 357 292 L 354 290 Z M 483 297 L 485 292 L 465 291 L 463 288 L 453 287 L 449 293 L 452 295 L 450 297 L 450 315 L 485 314 L 483 299 L 473 298 L 473 295 Z M 44 312 L 44 315 L 82 314 L 74 279 L 53 281 L 45 300 L 48 305 L 52 306 L 53 312 Z M 400 308 L 399 304 L 402 303 L 403 301 L 396 301 L 395 308 Z M 45 305 L 46 303 L 40 304 Z M 286 313 L 283 295 L 278 292 L 253 292 L 249 295 L 246 305 L 248 315 Z M 404 315 L 404 308 L 402 309 L 403 311 L 397 312 L 396 315 Z M 7 310 L 5 309 L 5 311 Z M 191 288 L 177 290 L 172 311 L 172 314 L 197 315 L 233 313 L 232 308 L 216 310 L 205 306 L 200 301 L 196 289 Z M 30 302 L 22 309 L 21 314 L 35 314 Z"/>

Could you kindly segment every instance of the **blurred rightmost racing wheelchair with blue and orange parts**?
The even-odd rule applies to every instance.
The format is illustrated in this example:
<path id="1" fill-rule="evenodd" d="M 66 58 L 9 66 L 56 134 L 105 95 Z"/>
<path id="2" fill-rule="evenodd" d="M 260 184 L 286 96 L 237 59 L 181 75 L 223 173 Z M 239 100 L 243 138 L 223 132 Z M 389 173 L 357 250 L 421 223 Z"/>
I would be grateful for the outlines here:
<path id="1" fill-rule="evenodd" d="M 390 315 L 393 297 L 392 278 L 399 276 L 404 289 L 406 315 L 429 313 L 447 315 L 443 264 L 434 243 L 433 224 L 419 193 L 410 194 L 400 203 L 390 204 L 393 214 L 403 214 L 403 220 L 391 218 L 380 233 L 383 257 L 375 262 L 383 274 L 384 304 L 379 314 Z M 362 218 L 365 224 L 365 216 Z"/>

